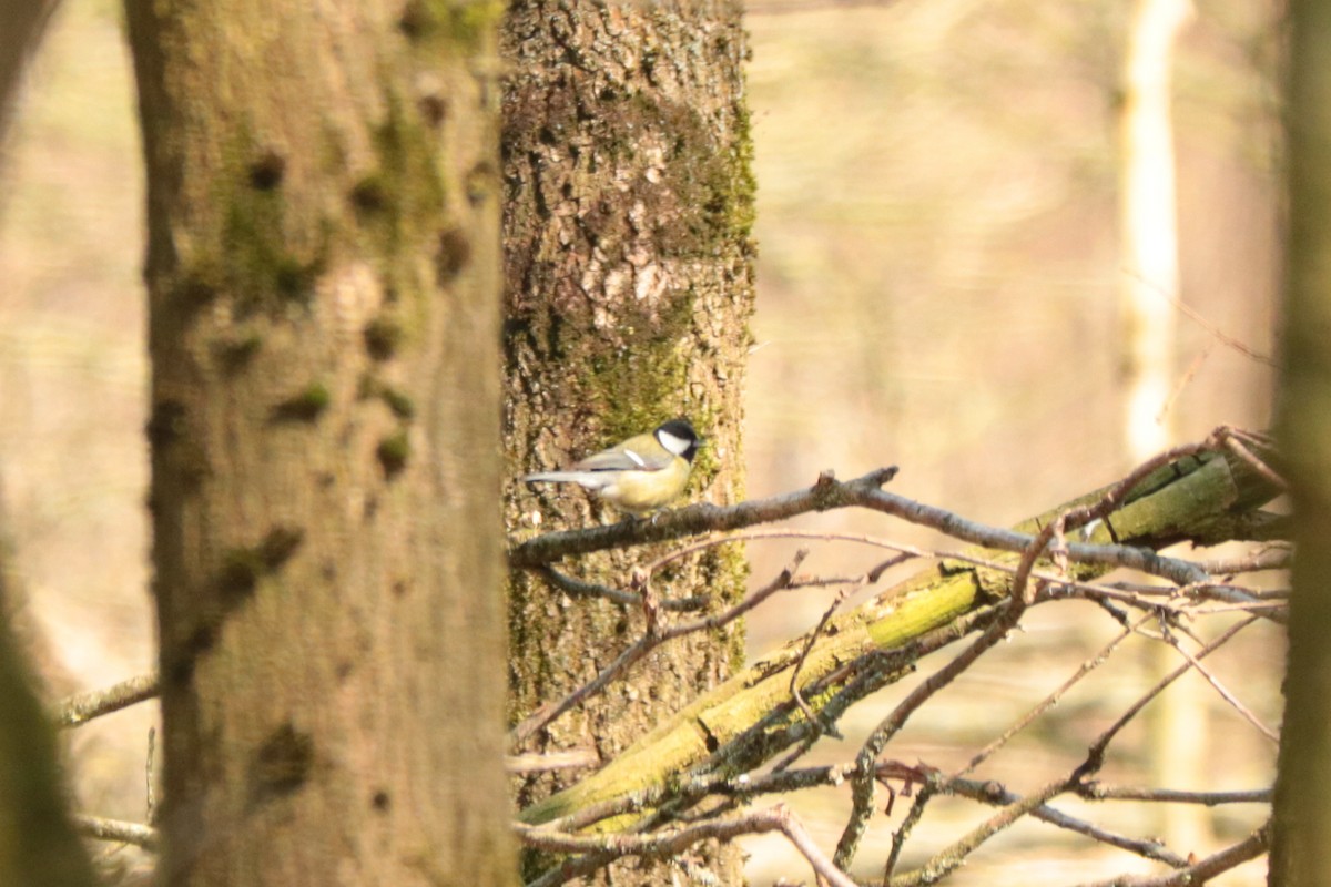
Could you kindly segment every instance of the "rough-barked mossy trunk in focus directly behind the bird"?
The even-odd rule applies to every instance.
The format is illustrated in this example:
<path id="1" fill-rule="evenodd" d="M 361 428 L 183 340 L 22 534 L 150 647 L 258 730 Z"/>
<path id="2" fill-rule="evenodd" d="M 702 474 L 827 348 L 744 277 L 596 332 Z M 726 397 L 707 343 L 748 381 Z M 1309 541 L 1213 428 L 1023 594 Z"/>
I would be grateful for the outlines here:
<path id="1" fill-rule="evenodd" d="M 740 499 L 753 305 L 740 5 L 516 0 L 503 45 L 510 475 L 567 464 L 684 415 L 708 438 L 689 499 Z M 506 516 L 518 535 L 618 520 L 583 491 L 552 487 L 514 489 Z M 580 567 L 623 585 L 646 560 L 632 552 Z M 744 584 L 743 553 L 728 547 L 672 565 L 654 592 L 707 594 L 723 608 Z M 640 612 L 568 600 L 516 576 L 512 718 L 592 678 L 642 630 Z M 531 750 L 595 749 L 610 759 L 724 678 L 743 649 L 737 626 L 668 645 Z M 568 779 L 527 779 L 520 803 Z M 737 852 L 705 864 L 739 883 Z M 664 876 L 619 872 L 614 882 Z"/>

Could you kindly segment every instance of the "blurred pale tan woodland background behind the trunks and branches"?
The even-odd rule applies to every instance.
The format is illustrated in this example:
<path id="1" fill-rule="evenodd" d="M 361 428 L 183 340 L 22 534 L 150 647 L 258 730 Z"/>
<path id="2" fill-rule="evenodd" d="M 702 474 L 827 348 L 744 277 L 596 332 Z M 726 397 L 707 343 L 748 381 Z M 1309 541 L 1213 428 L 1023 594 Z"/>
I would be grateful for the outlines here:
<path id="1" fill-rule="evenodd" d="M 893 489 L 1008 524 L 1114 480 L 1125 448 L 1125 265 L 1119 237 L 1126 0 L 897 0 L 852 5 L 755 0 L 748 69 L 759 178 L 757 346 L 751 359 L 749 495 L 897 464 Z M 1198 0 L 1173 60 L 1181 311 L 1162 427 L 1195 440 L 1222 423 L 1264 427 L 1279 274 L 1278 3 Z M 0 166 L 0 491 L 12 515 L 31 612 L 59 692 L 153 664 L 148 597 L 142 162 L 118 4 L 65 0 L 19 108 Z M 872 515 L 801 527 L 941 545 Z M 755 581 L 795 543 L 751 547 Z M 811 572 L 881 560 L 819 544 Z M 902 573 L 878 584 L 886 586 Z M 801 592 L 751 620 L 761 654 L 808 630 L 833 592 Z M 1115 632 L 1085 604 L 1038 608 L 921 711 L 888 757 L 948 767 L 1001 733 Z M 1252 630 L 1217 673 L 1279 723 L 1283 638 Z M 1014 791 L 1074 765 L 1150 685 L 1149 642 L 1117 654 L 981 771 Z M 946 656 L 946 653 L 944 653 Z M 944 660 L 925 660 L 926 676 Z M 1190 676 L 1191 677 L 1191 676 Z M 1270 785 L 1274 745 L 1202 681 L 1185 747 L 1207 789 Z M 852 759 L 910 685 L 852 711 L 847 739 L 811 762 Z M 137 706 L 71 734 L 80 807 L 142 819 L 153 714 Z M 1105 773 L 1147 783 L 1146 726 Z M 1167 787 L 1185 787 L 1169 785 Z M 881 866 L 892 817 L 860 859 Z M 1134 836 L 1154 811 L 1063 805 Z M 831 848 L 845 791 L 797 809 Z M 934 802 L 904 864 L 985 811 Z M 1209 810 L 1183 852 L 1203 855 L 1259 824 L 1259 806 Z M 807 879 L 780 839 L 749 844 L 755 884 Z M 952 883 L 1071 883 L 1146 871 L 1122 852 L 1024 824 Z M 1264 862 L 1219 883 L 1264 883 Z"/>

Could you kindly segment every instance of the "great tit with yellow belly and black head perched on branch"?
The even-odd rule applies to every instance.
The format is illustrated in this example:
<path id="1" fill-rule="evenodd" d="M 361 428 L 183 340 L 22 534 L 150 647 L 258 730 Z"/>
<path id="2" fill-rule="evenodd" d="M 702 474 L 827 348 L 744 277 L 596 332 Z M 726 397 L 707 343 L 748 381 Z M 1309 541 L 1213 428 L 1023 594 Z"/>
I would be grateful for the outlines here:
<path id="1" fill-rule="evenodd" d="M 574 483 L 635 517 L 664 508 L 684 492 L 701 440 L 684 419 L 587 456 L 567 471 L 526 475 L 526 483 Z"/>

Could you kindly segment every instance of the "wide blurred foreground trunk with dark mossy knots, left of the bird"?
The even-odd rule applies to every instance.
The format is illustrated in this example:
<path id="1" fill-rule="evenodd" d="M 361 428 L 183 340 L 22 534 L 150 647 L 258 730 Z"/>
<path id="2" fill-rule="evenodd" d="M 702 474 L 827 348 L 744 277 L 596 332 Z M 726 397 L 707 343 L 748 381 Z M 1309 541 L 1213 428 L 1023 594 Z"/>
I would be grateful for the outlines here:
<path id="1" fill-rule="evenodd" d="M 502 9 L 128 1 L 161 883 L 507 884 Z"/>

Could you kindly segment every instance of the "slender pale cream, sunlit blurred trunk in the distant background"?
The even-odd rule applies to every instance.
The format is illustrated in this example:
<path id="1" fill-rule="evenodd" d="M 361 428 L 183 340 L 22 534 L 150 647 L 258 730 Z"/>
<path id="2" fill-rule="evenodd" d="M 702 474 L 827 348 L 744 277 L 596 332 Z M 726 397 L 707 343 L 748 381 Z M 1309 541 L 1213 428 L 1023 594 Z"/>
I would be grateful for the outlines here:
<path id="1" fill-rule="evenodd" d="M 1191 0 L 1135 0 L 1129 19 L 1119 141 L 1119 238 L 1126 411 L 1125 452 L 1137 465 L 1175 443 L 1174 388 L 1178 338 L 1178 199 L 1174 165 L 1171 69 Z M 1149 652 L 1153 681 L 1178 665 L 1165 644 Z M 1190 676 L 1191 677 L 1191 676 Z M 1173 688 L 1149 710 L 1151 785 L 1201 789 L 1206 783 L 1206 696 L 1201 681 Z M 1182 852 L 1210 843 L 1209 813 L 1159 805 L 1157 827 Z"/>

